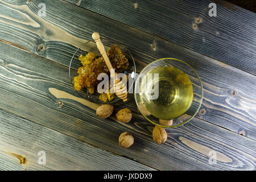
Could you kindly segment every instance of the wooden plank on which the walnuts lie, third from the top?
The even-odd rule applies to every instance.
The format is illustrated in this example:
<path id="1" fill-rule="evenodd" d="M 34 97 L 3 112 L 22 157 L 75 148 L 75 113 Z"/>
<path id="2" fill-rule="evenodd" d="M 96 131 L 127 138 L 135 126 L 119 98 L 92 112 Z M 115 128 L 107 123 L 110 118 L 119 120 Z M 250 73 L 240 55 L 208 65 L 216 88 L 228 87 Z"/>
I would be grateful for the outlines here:
<path id="1" fill-rule="evenodd" d="M 156 144 L 151 139 L 154 126 L 142 115 L 134 114 L 129 123 L 96 117 L 97 105 L 82 101 L 68 83 L 67 67 L 6 43 L 0 42 L 0 47 L 1 109 L 155 169 L 255 169 L 253 139 L 194 118 L 168 129 L 167 142 Z M 7 52 L 15 52 L 19 59 Z M 123 131 L 135 139 L 127 149 L 118 144 Z M 217 157 L 214 165 L 209 163 L 212 150 Z"/>

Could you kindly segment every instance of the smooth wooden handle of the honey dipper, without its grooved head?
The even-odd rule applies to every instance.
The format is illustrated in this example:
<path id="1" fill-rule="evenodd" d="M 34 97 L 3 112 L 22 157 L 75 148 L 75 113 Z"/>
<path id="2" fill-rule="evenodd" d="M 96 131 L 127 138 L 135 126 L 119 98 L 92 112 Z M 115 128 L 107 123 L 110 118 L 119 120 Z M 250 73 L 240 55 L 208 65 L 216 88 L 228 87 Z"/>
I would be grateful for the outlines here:
<path id="1" fill-rule="evenodd" d="M 114 69 L 113 69 L 113 67 L 112 67 L 112 65 L 111 65 L 111 63 L 110 63 L 110 61 L 109 61 L 109 57 L 108 57 L 108 55 L 106 54 L 105 48 L 104 48 L 104 46 L 103 46 L 103 44 L 102 44 L 102 42 L 101 42 L 100 35 L 98 34 L 98 32 L 94 32 L 94 33 L 92 34 L 92 38 L 93 38 L 93 40 L 96 42 L 97 48 L 100 50 L 101 55 L 102 55 L 102 57 L 103 57 L 104 60 L 105 60 L 105 63 L 106 63 L 106 65 L 107 65 L 107 67 L 108 67 L 108 69 L 109 69 L 109 71 L 110 71 L 110 76 L 111 76 L 112 78 L 115 78 Z"/>

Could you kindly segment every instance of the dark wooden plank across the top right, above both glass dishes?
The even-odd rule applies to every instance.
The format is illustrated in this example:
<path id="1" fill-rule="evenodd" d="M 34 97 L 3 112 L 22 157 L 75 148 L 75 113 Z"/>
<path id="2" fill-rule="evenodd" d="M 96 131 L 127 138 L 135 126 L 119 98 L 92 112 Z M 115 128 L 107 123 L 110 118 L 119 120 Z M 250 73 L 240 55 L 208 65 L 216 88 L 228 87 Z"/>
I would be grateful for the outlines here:
<path id="1" fill-rule="evenodd" d="M 77 4 L 78 0 L 67 0 Z M 210 17 L 210 3 L 217 16 Z M 79 6 L 108 16 L 256 74 L 256 14 L 225 1 L 80 1 Z"/>

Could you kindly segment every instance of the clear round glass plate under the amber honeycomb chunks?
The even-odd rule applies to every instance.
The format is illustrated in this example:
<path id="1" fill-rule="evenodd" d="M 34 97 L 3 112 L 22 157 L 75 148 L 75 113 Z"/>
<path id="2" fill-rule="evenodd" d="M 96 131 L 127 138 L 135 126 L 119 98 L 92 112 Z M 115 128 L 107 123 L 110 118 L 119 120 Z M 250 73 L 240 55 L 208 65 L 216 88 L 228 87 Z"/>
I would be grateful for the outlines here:
<path id="1" fill-rule="evenodd" d="M 115 42 L 111 39 L 101 38 L 101 42 L 104 44 L 105 51 L 108 51 L 115 44 Z M 129 90 L 133 89 L 133 84 L 134 84 L 135 75 L 136 75 L 135 61 L 129 50 L 125 48 L 123 49 L 121 48 L 121 51 L 129 61 L 128 68 L 122 72 L 125 75 L 129 76 L 127 81 L 127 92 L 129 93 Z M 96 58 L 102 56 L 100 51 L 98 51 L 97 45 L 94 42 L 94 40 L 89 40 L 88 42 L 85 42 L 84 44 L 82 44 L 80 48 L 76 50 L 69 64 L 69 77 L 71 78 L 71 82 L 73 86 L 74 86 L 73 78 L 79 75 L 77 73 L 77 70 L 79 69 L 79 67 L 82 67 L 81 61 L 79 60 L 79 56 L 80 55 L 85 56 L 88 52 L 93 52 L 96 55 Z M 110 79 L 110 76 L 109 76 L 109 79 Z M 104 102 L 100 100 L 99 98 L 100 93 L 97 93 L 96 90 L 97 90 L 97 86 L 94 88 L 93 94 L 89 93 L 89 90 L 87 88 L 82 88 L 81 90 L 76 92 L 85 100 L 94 102 L 96 104 L 111 104 L 121 99 L 115 95 L 112 101 L 107 100 L 106 102 Z M 130 97 L 128 96 L 127 96 L 127 99 L 129 100 Z"/>

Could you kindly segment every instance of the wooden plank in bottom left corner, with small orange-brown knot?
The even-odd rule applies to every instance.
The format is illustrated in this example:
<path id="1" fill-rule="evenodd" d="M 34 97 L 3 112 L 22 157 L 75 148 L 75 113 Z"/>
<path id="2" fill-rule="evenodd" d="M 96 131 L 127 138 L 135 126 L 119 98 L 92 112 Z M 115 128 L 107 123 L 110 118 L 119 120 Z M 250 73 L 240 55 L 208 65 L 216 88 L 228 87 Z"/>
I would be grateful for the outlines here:
<path id="1" fill-rule="evenodd" d="M 154 170 L 3 110 L 0 143 L 0 170 Z M 39 151 L 46 164 L 38 163 Z"/>

